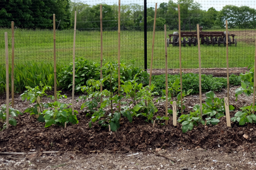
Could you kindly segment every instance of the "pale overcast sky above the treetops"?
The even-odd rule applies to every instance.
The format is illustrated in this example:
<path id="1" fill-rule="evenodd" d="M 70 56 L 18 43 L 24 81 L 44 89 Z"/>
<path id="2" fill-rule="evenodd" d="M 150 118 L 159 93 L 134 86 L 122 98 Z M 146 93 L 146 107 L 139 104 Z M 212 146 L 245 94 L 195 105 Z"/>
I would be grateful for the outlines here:
<path id="1" fill-rule="evenodd" d="M 105 4 L 118 4 L 118 0 L 72 0 L 72 1 L 81 1 L 86 4 L 90 5 L 96 5 L 99 3 L 105 3 Z M 160 3 L 168 2 L 169 0 L 147 0 L 147 6 L 148 7 L 155 7 L 155 3 L 158 3 L 158 6 Z M 236 5 L 240 7 L 241 5 L 246 5 L 251 8 L 255 8 L 255 1 L 256 0 L 194 0 L 200 4 L 202 4 L 203 10 L 208 10 L 211 7 L 214 7 L 217 11 L 220 11 L 223 6 L 225 5 Z M 174 2 L 177 2 L 177 0 L 174 0 Z M 130 4 L 130 3 L 136 3 L 136 4 L 144 4 L 144 0 L 121 0 L 121 4 Z"/>

